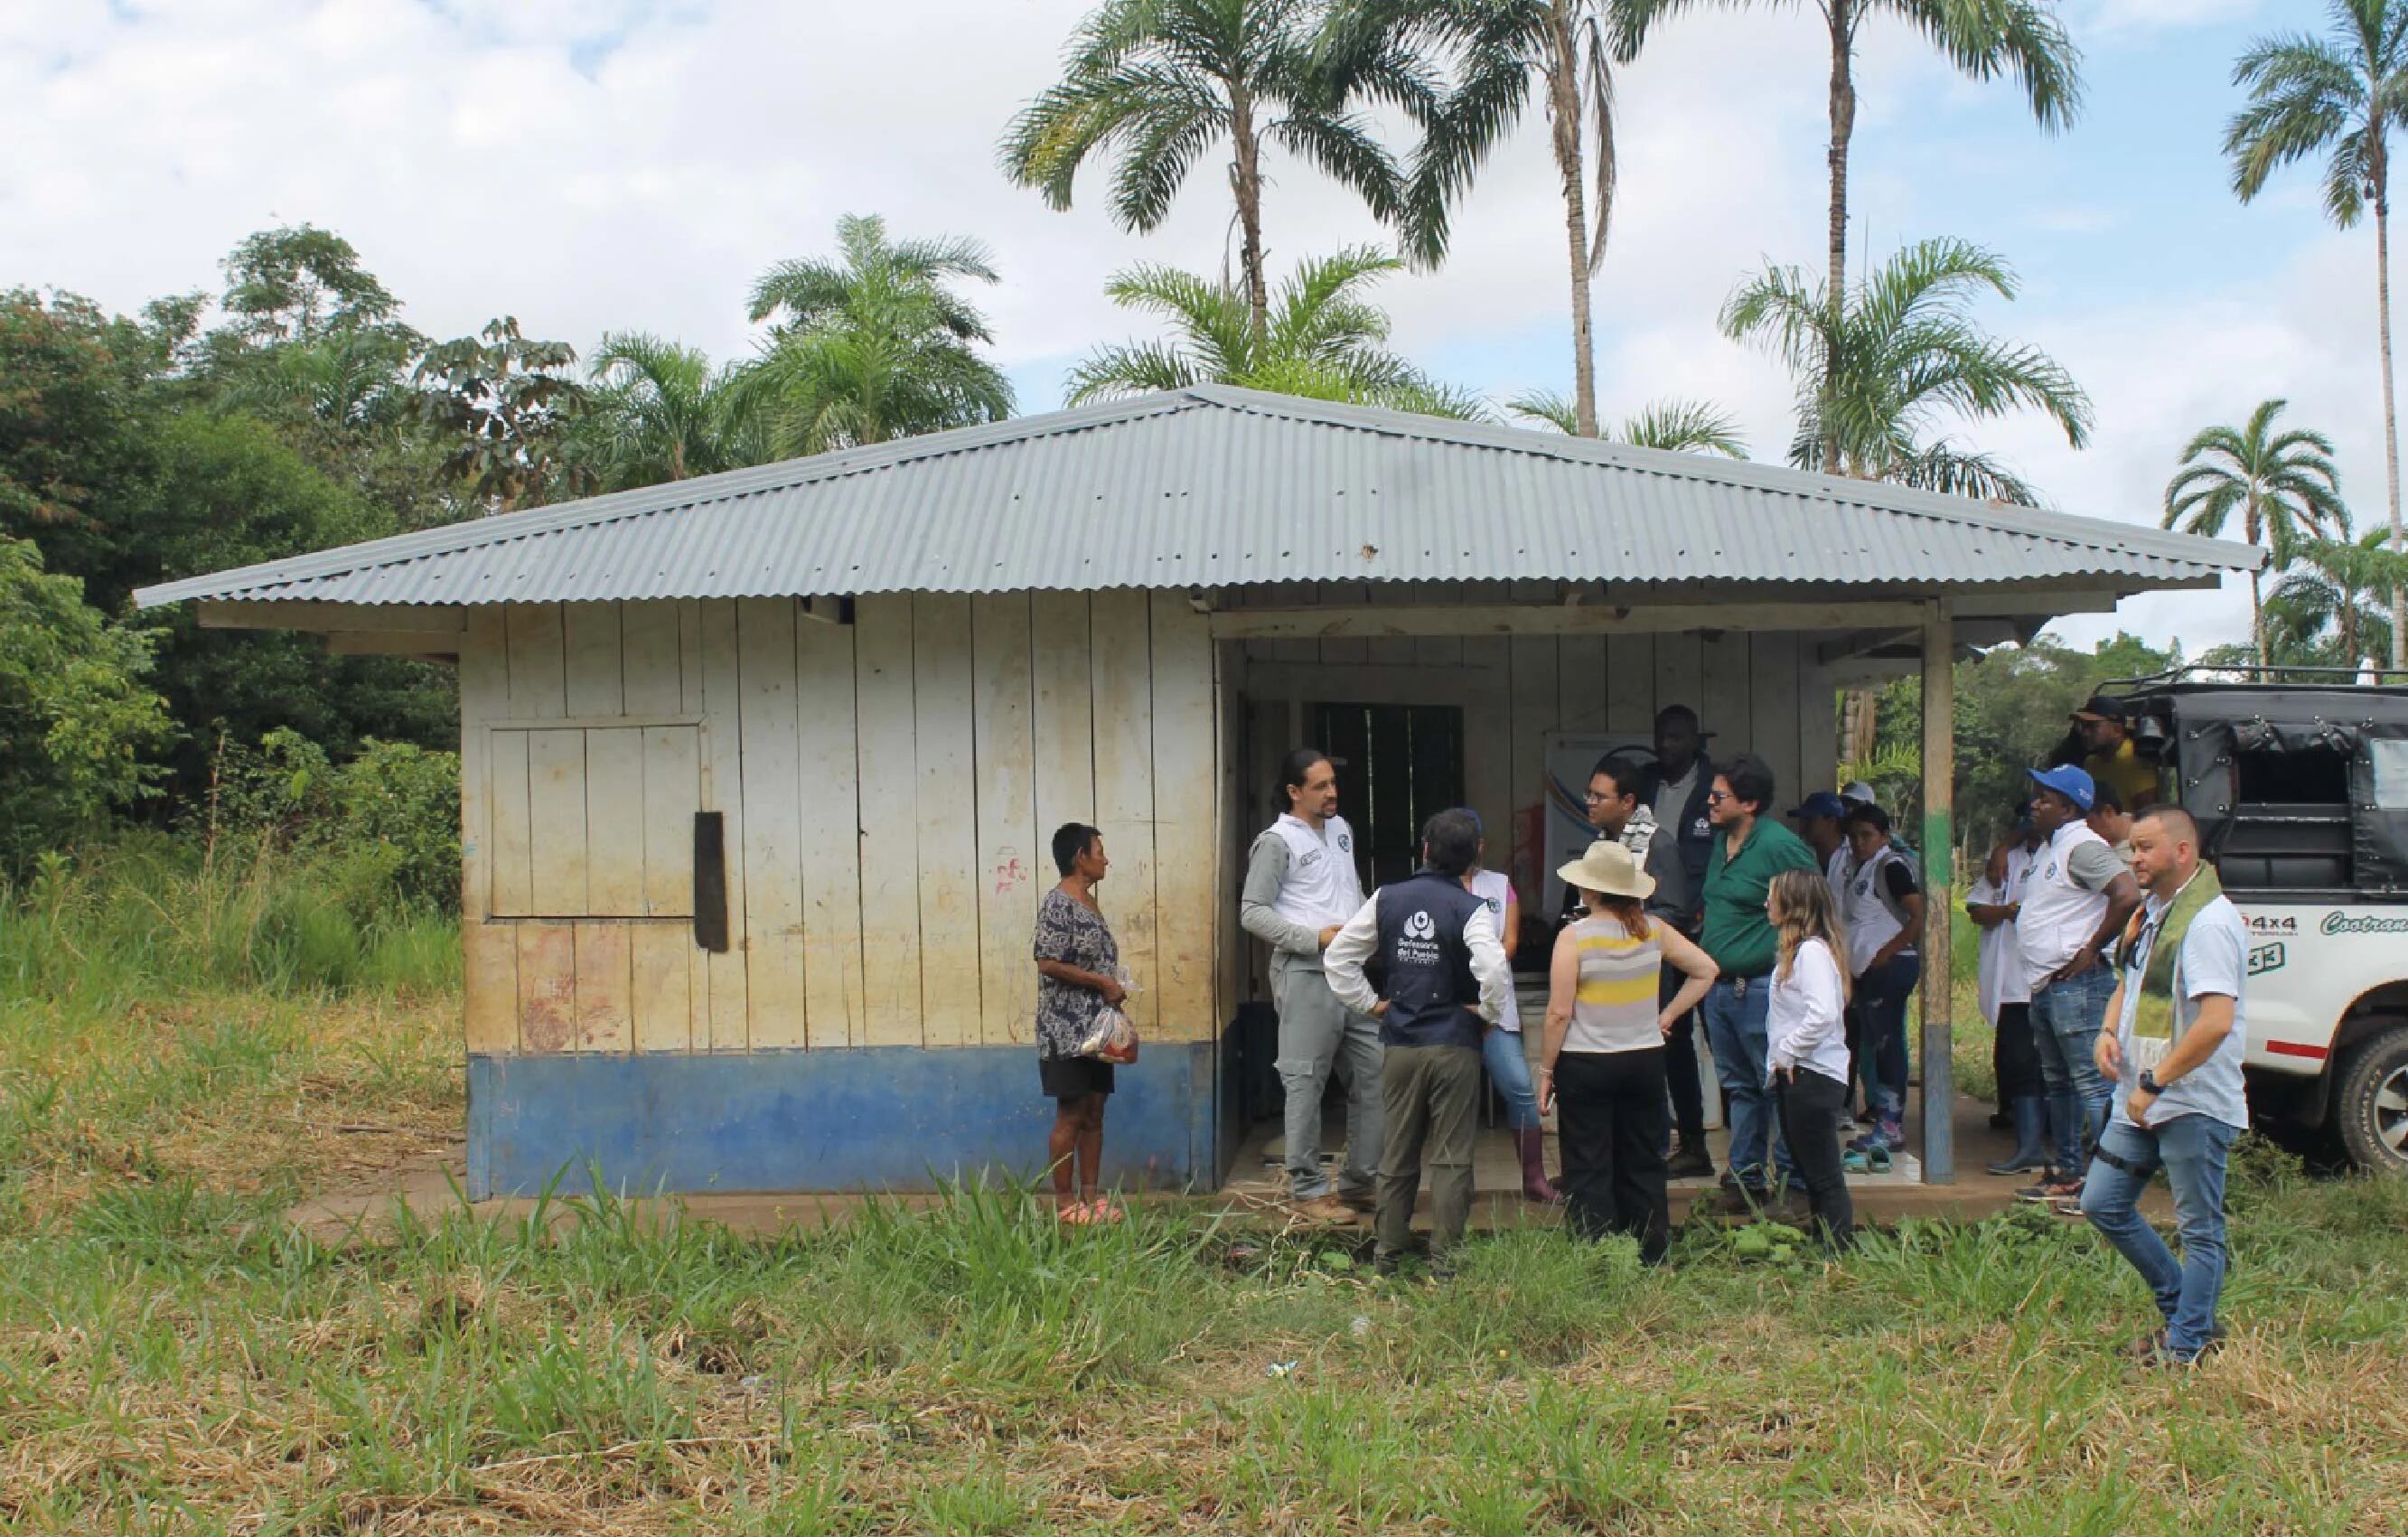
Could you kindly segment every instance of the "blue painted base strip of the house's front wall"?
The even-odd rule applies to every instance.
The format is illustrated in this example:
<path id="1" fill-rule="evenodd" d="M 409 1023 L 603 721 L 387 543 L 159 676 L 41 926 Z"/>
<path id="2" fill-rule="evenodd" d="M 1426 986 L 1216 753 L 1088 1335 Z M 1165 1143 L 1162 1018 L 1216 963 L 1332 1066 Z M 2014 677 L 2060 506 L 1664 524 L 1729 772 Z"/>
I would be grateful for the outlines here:
<path id="1" fill-rule="evenodd" d="M 1115 1072 L 1105 1183 L 1211 1185 L 1233 1156 L 1218 1043 L 1153 1043 Z M 636 1195 L 929 1190 L 1045 1166 L 1052 1101 L 1028 1046 L 467 1060 L 467 1192 L 535 1195 L 588 1171 Z"/>

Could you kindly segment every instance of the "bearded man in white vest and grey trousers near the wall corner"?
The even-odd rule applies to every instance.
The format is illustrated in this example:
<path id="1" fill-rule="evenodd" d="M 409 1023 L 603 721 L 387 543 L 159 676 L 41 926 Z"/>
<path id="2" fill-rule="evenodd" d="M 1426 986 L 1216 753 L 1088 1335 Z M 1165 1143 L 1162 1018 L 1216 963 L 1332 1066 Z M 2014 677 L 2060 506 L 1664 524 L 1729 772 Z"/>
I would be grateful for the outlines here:
<path id="1" fill-rule="evenodd" d="M 1380 1200 L 1380 1021 L 1336 1000 L 1322 952 L 1363 906 L 1363 877 L 1329 756 L 1298 747 L 1281 788 L 1288 809 L 1247 850 L 1238 925 L 1271 947 L 1288 1200 L 1317 1221 L 1351 1224 Z M 1322 1171 L 1322 1091 L 1332 1072 L 1346 1084 L 1346 1156 L 1334 1195 Z"/>

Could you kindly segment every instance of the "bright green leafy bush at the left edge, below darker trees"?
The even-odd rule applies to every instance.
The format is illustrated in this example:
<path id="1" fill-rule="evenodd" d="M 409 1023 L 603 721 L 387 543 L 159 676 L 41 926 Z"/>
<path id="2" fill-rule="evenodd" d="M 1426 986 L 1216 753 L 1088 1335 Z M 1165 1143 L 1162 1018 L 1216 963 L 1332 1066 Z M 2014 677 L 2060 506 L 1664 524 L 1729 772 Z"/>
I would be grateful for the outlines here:
<path id="1" fill-rule="evenodd" d="M 0 874 L 154 793 L 144 754 L 169 718 L 147 672 L 142 638 L 89 607 L 79 581 L 0 537 Z"/>

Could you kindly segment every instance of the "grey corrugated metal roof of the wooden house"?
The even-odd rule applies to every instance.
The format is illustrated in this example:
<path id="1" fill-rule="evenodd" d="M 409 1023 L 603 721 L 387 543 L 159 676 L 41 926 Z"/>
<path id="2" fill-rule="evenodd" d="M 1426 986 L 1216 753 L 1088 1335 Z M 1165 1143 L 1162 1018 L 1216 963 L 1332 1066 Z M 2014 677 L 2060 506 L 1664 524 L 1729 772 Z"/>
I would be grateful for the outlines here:
<path id="1" fill-rule="evenodd" d="M 2247 544 L 1775 465 L 1199 385 L 144 588 L 554 602 L 1269 581 L 2213 581 Z"/>

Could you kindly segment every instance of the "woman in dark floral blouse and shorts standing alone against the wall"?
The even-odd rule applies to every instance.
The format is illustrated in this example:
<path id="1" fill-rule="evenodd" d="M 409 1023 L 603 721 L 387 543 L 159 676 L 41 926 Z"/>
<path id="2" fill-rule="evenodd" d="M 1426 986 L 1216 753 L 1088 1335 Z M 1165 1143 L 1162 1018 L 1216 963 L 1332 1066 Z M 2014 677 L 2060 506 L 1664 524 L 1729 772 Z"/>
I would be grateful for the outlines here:
<path id="1" fill-rule="evenodd" d="M 1062 1221 L 1120 1221 L 1120 1207 L 1096 1192 L 1103 1173 L 1103 1101 L 1112 1091 L 1112 1065 L 1079 1055 L 1079 1046 L 1096 1029 L 1096 1014 L 1127 995 L 1117 978 L 1120 947 L 1112 944 L 1112 930 L 1096 908 L 1096 882 L 1112 867 L 1103 853 L 1103 834 L 1084 822 L 1064 822 L 1055 831 L 1055 867 L 1062 872 L 1062 884 L 1038 903 L 1035 937 L 1038 1082 L 1055 1101 L 1052 1137 L 1045 1147 L 1052 1156 L 1055 1205 Z"/>

